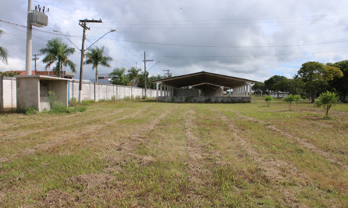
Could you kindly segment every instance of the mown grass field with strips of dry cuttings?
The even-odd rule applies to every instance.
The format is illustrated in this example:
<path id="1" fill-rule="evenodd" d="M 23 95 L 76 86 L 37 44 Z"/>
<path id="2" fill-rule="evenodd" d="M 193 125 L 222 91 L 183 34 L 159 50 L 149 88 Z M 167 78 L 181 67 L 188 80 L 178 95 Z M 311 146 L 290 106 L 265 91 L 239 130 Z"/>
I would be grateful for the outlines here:
<path id="1" fill-rule="evenodd" d="M 348 104 L 0 115 L 0 207 L 348 207 Z"/>

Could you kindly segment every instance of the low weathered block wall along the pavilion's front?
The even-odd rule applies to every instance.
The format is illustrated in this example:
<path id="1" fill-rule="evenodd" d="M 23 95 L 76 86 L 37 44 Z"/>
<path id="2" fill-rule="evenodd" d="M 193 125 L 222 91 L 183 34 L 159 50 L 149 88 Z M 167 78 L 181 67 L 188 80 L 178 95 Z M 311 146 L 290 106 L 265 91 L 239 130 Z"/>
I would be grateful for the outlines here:
<path id="1" fill-rule="evenodd" d="M 249 97 L 207 97 L 207 96 L 163 96 L 157 102 L 165 103 L 248 103 Z"/>

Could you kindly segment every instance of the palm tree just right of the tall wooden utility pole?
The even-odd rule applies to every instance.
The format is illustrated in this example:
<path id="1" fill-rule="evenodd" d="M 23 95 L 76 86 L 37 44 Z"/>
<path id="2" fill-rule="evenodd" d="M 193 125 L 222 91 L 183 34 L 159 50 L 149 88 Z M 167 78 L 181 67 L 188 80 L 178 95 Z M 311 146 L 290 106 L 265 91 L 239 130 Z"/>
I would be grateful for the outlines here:
<path id="1" fill-rule="evenodd" d="M 112 61 L 109 56 L 103 56 L 104 46 L 102 48 L 89 48 L 86 53 L 86 61 L 84 64 L 92 64 L 92 70 L 95 69 L 95 82 L 98 83 L 98 65 L 111 67 L 108 62 Z"/>

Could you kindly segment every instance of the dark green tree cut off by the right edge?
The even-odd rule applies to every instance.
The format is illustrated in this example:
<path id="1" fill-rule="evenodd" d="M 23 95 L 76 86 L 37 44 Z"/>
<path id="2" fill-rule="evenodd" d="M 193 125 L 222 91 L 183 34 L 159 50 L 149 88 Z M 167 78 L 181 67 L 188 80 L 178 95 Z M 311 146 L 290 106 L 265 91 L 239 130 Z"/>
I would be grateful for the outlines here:
<path id="1" fill-rule="evenodd" d="M 341 96 L 346 97 L 348 95 L 348 60 L 334 64 L 327 63 L 327 65 L 338 67 L 342 71 L 343 77 L 334 77 L 330 81 L 330 87 L 340 92 Z"/>

